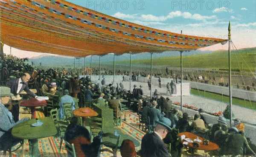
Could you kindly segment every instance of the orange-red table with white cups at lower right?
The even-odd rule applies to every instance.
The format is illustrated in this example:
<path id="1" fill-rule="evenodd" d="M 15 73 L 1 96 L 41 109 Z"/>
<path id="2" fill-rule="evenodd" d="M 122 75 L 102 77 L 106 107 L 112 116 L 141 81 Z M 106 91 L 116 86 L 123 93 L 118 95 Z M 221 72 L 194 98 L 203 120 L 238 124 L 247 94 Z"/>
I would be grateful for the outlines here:
<path id="1" fill-rule="evenodd" d="M 199 149 L 199 150 L 204 150 L 204 151 L 213 151 L 213 150 L 218 150 L 219 146 L 211 141 L 208 142 L 208 145 L 204 145 L 204 138 L 203 137 L 199 137 L 198 135 L 195 135 L 195 134 L 192 134 L 190 132 L 183 132 L 183 133 L 180 133 L 180 134 L 177 134 L 177 137 L 180 137 L 182 135 L 185 135 L 186 138 L 189 138 L 191 140 L 194 140 L 198 137 L 199 140 L 201 140 L 202 142 L 200 142 L 200 145 L 198 148 L 196 149 Z M 183 140 L 181 140 L 180 142 L 183 143 Z M 189 143 L 188 144 L 189 147 L 191 148 L 195 148 L 193 146 L 192 143 Z"/>

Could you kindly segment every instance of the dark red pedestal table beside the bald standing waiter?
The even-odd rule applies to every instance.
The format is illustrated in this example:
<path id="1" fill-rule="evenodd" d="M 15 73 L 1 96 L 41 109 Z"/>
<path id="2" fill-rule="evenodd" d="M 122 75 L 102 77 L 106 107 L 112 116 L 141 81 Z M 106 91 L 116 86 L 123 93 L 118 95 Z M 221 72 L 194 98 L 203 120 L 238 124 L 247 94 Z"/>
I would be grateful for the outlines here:
<path id="1" fill-rule="evenodd" d="M 31 119 L 35 118 L 35 107 L 47 105 L 46 100 L 39 101 L 38 99 L 23 100 L 20 102 L 20 106 L 31 107 Z"/>

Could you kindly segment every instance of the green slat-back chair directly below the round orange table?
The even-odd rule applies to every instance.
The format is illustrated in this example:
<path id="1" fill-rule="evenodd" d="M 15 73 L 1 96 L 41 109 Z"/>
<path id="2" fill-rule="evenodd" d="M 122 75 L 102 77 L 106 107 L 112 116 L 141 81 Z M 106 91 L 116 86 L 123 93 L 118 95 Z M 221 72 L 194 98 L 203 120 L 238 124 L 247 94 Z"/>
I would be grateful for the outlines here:
<path id="1" fill-rule="evenodd" d="M 103 130 L 103 118 L 92 117 L 88 118 L 90 123 L 90 135 L 91 139 L 97 136 L 99 131 Z"/>

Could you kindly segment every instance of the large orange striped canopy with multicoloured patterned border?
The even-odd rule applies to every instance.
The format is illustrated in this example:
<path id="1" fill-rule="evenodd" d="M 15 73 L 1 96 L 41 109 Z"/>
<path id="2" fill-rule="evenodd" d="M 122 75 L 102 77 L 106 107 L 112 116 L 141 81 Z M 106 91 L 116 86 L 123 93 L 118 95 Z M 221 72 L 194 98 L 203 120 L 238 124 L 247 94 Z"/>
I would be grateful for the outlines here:
<path id="1" fill-rule="evenodd" d="M 141 26 L 64 0 L 0 2 L 1 41 L 26 51 L 83 57 L 187 51 L 224 41 Z"/>

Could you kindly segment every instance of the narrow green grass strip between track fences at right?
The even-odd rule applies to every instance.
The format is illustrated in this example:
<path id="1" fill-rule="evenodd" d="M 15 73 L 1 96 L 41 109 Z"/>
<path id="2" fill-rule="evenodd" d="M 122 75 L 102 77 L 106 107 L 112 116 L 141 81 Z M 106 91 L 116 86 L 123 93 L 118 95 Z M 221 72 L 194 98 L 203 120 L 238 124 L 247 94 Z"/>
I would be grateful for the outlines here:
<path id="1" fill-rule="evenodd" d="M 221 102 L 229 103 L 229 96 L 221 96 L 220 94 L 209 93 L 209 92 L 204 92 L 204 91 L 195 90 L 195 89 L 191 89 L 190 93 L 193 94 L 193 95 L 202 96 L 202 97 L 205 97 L 205 98 L 214 99 L 214 100 L 218 100 L 218 101 L 221 101 Z M 242 99 L 233 98 L 232 99 L 232 104 L 256 110 L 256 102 L 250 102 L 250 101 L 247 101 L 247 100 L 244 101 Z"/>

